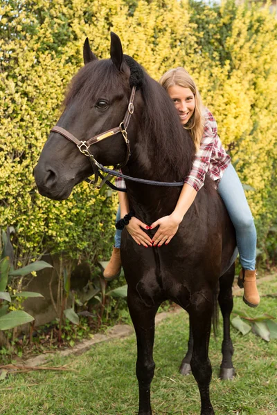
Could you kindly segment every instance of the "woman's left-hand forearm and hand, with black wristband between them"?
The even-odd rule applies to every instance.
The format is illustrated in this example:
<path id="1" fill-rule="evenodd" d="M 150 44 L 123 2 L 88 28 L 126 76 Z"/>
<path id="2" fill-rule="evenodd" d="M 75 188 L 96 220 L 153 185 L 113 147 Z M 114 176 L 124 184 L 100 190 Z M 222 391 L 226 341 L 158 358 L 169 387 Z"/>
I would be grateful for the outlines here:
<path id="1" fill-rule="evenodd" d="M 120 204 L 120 216 L 123 218 L 125 214 L 129 213 L 129 201 L 127 193 L 118 192 L 118 199 Z M 139 219 L 136 219 L 136 217 L 132 217 L 129 221 L 129 225 L 126 225 L 125 228 L 134 239 L 134 241 L 136 241 L 136 243 L 145 246 L 145 248 L 152 246 L 152 239 L 143 230 L 149 229 L 148 225 L 145 225 L 145 223 L 141 222 Z"/>

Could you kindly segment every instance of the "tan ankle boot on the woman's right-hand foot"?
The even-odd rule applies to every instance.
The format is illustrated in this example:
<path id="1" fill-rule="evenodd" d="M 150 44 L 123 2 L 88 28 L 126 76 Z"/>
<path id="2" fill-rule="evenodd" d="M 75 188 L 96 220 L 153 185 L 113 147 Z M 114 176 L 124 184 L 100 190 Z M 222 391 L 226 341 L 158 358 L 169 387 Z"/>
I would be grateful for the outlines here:
<path id="1" fill-rule="evenodd" d="M 260 303 L 260 295 L 256 286 L 256 270 L 240 270 L 238 286 L 244 288 L 243 301 L 249 307 L 257 307 Z"/>

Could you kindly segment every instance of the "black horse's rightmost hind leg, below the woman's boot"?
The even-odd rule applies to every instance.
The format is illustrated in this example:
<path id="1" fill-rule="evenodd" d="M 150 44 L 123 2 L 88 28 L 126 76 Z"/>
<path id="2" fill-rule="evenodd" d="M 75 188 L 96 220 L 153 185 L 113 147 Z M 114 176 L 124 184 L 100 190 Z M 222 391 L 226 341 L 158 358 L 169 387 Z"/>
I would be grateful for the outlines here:
<path id="1" fill-rule="evenodd" d="M 233 344 L 230 337 L 230 315 L 233 309 L 232 284 L 235 275 L 235 264 L 220 277 L 220 293 L 218 302 L 223 317 L 223 341 L 222 341 L 222 364 L 220 366 L 221 379 L 233 379 L 235 369 L 233 367 Z"/>

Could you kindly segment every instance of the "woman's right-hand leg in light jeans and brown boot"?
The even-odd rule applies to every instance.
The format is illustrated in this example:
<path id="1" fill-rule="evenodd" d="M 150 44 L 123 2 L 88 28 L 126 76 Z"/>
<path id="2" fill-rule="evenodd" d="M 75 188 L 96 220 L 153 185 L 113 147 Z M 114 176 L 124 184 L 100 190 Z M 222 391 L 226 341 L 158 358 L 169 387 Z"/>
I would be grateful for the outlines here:
<path id="1" fill-rule="evenodd" d="M 233 165 L 229 165 L 220 180 L 218 192 L 222 197 L 235 227 L 242 272 L 239 284 L 244 286 L 244 302 L 257 306 L 260 302 L 256 288 L 257 234 L 240 178 Z"/>

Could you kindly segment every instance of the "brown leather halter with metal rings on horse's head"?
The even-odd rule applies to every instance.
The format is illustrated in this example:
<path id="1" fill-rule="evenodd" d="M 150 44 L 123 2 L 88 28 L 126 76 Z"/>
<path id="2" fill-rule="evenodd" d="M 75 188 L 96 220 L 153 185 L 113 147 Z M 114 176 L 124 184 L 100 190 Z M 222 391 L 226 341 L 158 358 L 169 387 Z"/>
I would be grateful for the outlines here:
<path id="1" fill-rule="evenodd" d="M 127 128 L 128 128 L 129 120 L 132 116 L 132 113 L 134 113 L 134 95 L 135 95 L 135 93 L 136 93 L 136 86 L 133 86 L 131 96 L 129 98 L 129 104 L 128 104 L 128 107 L 127 107 L 127 111 L 125 113 L 123 121 L 120 122 L 119 127 L 109 129 L 108 131 L 105 131 L 104 133 L 98 134 L 98 136 L 94 136 L 92 138 L 89 138 L 89 140 L 87 140 L 87 141 L 78 140 L 78 138 L 75 138 L 75 136 L 73 136 L 73 134 L 69 133 L 69 131 L 67 131 L 66 129 L 64 129 L 62 127 L 55 126 L 50 130 L 51 133 L 52 132 L 53 133 L 59 133 L 62 136 L 64 136 L 65 138 L 67 138 L 67 140 L 73 142 L 75 145 L 77 145 L 78 149 L 81 151 L 82 154 L 84 154 L 84 156 L 89 157 L 89 160 L 91 161 L 91 165 L 93 166 L 93 172 L 95 174 L 95 180 L 93 182 L 97 181 L 98 169 L 100 169 L 101 165 L 98 163 L 98 161 L 94 158 L 93 154 L 89 150 L 89 147 L 91 147 L 91 145 L 96 144 L 97 142 L 100 142 L 102 140 L 105 140 L 105 138 L 108 138 L 110 136 L 114 136 L 114 134 L 121 133 L 123 135 L 123 138 L 124 138 L 125 143 L 127 145 L 127 154 L 126 154 L 126 157 L 125 157 L 125 160 L 124 160 L 123 164 L 121 164 L 118 167 L 124 167 L 128 163 L 129 156 L 131 155 L 131 151 L 130 151 L 129 140 L 128 140 L 128 136 L 127 136 Z"/>

